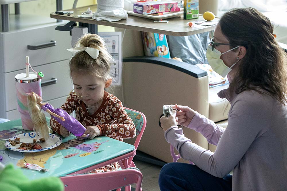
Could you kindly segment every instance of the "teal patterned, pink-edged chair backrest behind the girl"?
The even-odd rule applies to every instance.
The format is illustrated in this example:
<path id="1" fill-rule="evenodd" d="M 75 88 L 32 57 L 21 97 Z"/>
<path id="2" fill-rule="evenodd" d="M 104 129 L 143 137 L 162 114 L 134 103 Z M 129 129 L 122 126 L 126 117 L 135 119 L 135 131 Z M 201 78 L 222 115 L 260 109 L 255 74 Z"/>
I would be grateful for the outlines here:
<path id="1" fill-rule="evenodd" d="M 131 117 L 131 119 L 133 120 L 133 123 L 135 124 L 135 129 L 137 131 L 137 136 L 135 139 L 135 150 L 137 150 L 137 147 L 139 146 L 139 141 L 141 140 L 141 137 L 144 133 L 144 130 L 146 128 L 146 116 L 136 110 L 133 109 L 129 109 L 125 107 L 125 111 L 127 112 L 127 114 Z M 129 163 L 133 160 L 133 157 L 129 158 Z"/>

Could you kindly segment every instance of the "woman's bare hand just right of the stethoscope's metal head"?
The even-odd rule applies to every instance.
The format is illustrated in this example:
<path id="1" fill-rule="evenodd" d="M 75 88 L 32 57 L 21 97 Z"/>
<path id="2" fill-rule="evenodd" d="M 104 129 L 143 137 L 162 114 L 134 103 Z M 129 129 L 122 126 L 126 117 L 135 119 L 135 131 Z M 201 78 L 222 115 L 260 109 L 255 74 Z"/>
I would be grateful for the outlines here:
<path id="1" fill-rule="evenodd" d="M 180 125 L 187 127 L 191 122 L 192 118 L 195 116 L 196 112 L 187 106 L 179 106 L 177 104 L 170 106 L 172 106 L 172 108 L 177 109 L 177 115 L 176 115 L 178 118 L 177 122 Z"/>

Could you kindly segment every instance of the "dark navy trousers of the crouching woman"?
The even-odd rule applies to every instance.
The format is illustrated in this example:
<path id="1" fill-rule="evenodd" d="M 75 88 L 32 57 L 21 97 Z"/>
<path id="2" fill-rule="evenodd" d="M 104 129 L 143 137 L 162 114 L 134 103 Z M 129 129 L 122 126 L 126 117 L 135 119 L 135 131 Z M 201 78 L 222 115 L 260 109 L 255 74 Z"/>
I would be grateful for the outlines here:
<path id="1" fill-rule="evenodd" d="M 162 191 L 229 191 L 232 176 L 218 178 L 187 163 L 168 163 L 160 170 L 158 184 Z"/>

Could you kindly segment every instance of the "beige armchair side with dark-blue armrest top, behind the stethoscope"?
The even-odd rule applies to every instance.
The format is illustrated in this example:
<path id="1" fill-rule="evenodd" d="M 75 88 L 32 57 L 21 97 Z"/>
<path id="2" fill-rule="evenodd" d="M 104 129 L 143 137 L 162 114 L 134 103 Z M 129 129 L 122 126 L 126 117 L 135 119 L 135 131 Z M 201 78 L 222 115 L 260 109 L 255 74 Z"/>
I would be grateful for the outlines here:
<path id="1" fill-rule="evenodd" d="M 188 63 L 151 56 L 124 58 L 122 101 L 125 107 L 144 113 L 147 120 L 137 149 L 162 161 L 172 162 L 170 144 L 166 142 L 158 124 L 162 106 L 189 106 L 208 117 L 208 90 L 207 72 Z M 183 133 L 193 143 L 208 148 L 206 139 L 199 133 L 187 128 Z M 130 144 L 132 141 L 125 139 Z"/>

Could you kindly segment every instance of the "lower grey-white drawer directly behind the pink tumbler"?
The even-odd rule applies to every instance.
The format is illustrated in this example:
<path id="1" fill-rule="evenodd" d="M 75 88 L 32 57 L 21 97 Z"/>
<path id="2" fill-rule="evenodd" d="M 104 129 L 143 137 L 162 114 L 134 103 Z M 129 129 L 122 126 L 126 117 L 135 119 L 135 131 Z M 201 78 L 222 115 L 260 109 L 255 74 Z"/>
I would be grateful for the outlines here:
<path id="1" fill-rule="evenodd" d="M 57 83 L 42 86 L 43 100 L 53 100 L 56 98 L 68 95 L 73 89 L 72 81 L 69 75 L 69 60 L 46 64 L 43 66 L 34 67 L 34 70 L 41 71 L 44 74 L 44 78 L 41 79 L 41 83 L 57 78 Z M 17 97 L 15 87 L 15 75 L 25 73 L 26 70 L 19 70 L 15 72 L 9 72 L 4 74 L 5 78 L 5 111 L 17 109 Z"/>

